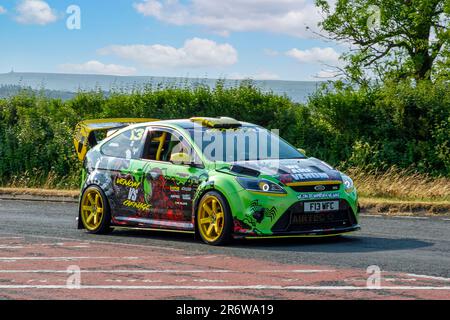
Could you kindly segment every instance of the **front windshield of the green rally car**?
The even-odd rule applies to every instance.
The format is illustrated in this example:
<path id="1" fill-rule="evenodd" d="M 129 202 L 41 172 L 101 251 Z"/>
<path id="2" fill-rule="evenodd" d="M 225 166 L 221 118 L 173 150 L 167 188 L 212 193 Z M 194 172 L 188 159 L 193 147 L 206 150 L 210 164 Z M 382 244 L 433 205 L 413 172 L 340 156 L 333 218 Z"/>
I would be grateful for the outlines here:
<path id="1" fill-rule="evenodd" d="M 304 154 L 281 139 L 277 131 L 256 126 L 237 129 L 188 129 L 194 143 L 210 161 L 238 162 L 267 159 L 304 159 Z"/>

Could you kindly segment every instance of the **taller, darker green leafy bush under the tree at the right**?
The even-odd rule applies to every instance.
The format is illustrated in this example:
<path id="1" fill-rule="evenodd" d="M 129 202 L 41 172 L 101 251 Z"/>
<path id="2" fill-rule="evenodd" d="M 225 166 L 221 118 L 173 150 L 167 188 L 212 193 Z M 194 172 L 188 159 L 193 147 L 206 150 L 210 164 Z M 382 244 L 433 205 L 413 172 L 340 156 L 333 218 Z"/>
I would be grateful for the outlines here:
<path id="1" fill-rule="evenodd" d="M 447 83 L 318 92 L 310 99 L 320 128 L 314 153 L 342 167 L 392 166 L 450 175 L 450 91 Z"/>

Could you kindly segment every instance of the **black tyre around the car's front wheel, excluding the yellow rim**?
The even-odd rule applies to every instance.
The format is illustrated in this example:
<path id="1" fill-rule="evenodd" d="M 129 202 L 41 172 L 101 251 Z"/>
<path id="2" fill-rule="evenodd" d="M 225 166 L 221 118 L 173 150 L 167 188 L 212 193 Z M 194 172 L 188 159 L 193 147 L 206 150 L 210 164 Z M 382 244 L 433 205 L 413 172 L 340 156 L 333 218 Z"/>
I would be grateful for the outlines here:
<path id="1" fill-rule="evenodd" d="M 220 205 L 222 206 L 223 211 L 224 211 L 223 231 L 222 231 L 222 234 L 220 235 L 220 237 L 214 241 L 208 241 L 208 239 L 206 239 L 203 236 L 203 233 L 200 230 L 201 227 L 199 225 L 199 219 L 198 219 L 200 205 L 202 204 L 202 202 L 205 198 L 208 198 L 211 196 L 217 198 L 217 200 L 220 202 Z M 216 191 L 210 191 L 210 192 L 207 192 L 206 194 L 204 194 L 203 197 L 198 202 L 196 211 L 197 211 L 196 212 L 197 230 L 198 230 L 198 234 L 200 234 L 200 238 L 203 240 L 203 242 L 205 242 L 206 244 L 211 245 L 211 246 L 225 246 L 232 241 L 233 226 L 234 226 L 233 217 L 231 215 L 230 206 L 228 205 L 227 200 L 220 193 L 218 193 Z"/>

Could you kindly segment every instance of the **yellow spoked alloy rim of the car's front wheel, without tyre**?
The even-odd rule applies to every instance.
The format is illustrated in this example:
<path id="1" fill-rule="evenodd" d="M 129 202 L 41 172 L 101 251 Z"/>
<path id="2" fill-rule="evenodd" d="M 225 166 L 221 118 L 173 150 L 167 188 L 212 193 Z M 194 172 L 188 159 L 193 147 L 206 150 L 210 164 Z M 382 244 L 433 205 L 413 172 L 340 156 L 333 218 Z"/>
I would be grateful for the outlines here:
<path id="1" fill-rule="evenodd" d="M 207 196 L 200 202 L 198 209 L 198 226 L 203 239 L 217 241 L 223 233 L 225 211 L 215 196 Z"/>

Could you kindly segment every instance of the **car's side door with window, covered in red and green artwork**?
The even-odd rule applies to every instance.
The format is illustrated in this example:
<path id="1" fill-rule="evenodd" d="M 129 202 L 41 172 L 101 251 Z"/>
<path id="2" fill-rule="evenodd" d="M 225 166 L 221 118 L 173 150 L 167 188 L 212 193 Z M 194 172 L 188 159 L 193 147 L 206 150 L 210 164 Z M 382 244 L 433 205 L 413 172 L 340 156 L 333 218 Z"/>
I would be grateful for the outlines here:
<path id="1" fill-rule="evenodd" d="M 147 162 L 145 197 L 151 205 L 148 223 L 158 228 L 194 230 L 193 199 L 199 184 L 207 180 L 207 171 L 192 145 L 174 129 L 150 127 L 143 160 Z"/>

